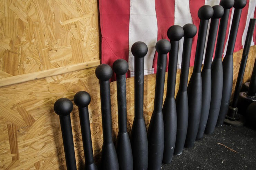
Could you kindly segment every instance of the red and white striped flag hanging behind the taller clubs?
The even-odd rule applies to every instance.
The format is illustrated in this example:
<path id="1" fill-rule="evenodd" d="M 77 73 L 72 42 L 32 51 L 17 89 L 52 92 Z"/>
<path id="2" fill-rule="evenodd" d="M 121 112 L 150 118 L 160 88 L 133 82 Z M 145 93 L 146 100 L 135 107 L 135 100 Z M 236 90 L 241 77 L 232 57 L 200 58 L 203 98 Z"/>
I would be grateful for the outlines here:
<path id="1" fill-rule="evenodd" d="M 99 0 L 101 62 L 112 67 L 115 60 L 125 59 L 129 64 L 127 76 L 132 77 L 134 57 L 131 54 L 131 46 L 136 41 L 143 41 L 148 46 L 144 74 L 155 73 L 157 64 L 155 44 L 160 39 L 168 39 L 168 28 L 174 24 L 183 27 L 186 23 L 193 23 L 199 28 L 199 8 L 203 5 L 214 6 L 219 2 L 220 0 Z M 243 8 L 234 51 L 244 46 L 249 20 L 256 18 L 255 6 L 256 0 L 247 0 Z M 233 13 L 234 8 L 231 8 L 223 55 L 227 49 Z M 252 46 L 255 41 L 256 30 Z M 194 64 L 196 42 L 197 34 L 193 38 L 190 66 Z M 180 40 L 178 68 L 181 67 L 182 47 L 183 38 Z M 166 69 L 168 70 L 168 67 Z M 115 77 L 112 80 L 115 80 Z"/>

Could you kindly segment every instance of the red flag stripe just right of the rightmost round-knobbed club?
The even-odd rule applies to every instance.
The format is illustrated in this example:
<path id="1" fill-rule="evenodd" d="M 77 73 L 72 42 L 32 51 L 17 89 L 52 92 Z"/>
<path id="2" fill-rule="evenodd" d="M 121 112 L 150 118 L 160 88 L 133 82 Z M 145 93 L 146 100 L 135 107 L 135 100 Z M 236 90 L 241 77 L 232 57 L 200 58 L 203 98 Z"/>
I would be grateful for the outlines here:
<path id="1" fill-rule="evenodd" d="M 246 26 L 246 18 L 248 14 L 248 8 L 249 8 L 249 0 L 247 0 L 246 6 L 243 8 L 241 13 L 241 18 L 239 22 L 239 27 L 237 31 L 237 37 L 236 37 L 236 44 L 234 48 L 234 52 L 239 51 L 241 48 L 243 48 L 242 45 L 242 37 Z"/>

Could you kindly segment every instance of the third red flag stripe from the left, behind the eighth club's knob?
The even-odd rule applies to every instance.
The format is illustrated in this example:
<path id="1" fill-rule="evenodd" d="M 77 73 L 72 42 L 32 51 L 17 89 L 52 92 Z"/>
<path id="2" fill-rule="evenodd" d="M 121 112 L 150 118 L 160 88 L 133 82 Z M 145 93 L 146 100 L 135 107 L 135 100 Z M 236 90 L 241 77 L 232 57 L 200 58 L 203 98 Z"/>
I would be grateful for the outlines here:
<path id="1" fill-rule="evenodd" d="M 193 24 L 197 28 L 197 33 L 196 33 L 195 37 L 193 38 L 193 42 L 192 42 L 190 66 L 194 66 L 194 61 L 195 61 L 196 43 L 197 43 L 198 30 L 199 30 L 199 25 L 200 25 L 200 19 L 198 18 L 198 10 L 199 10 L 199 8 L 204 6 L 204 3 L 205 3 L 205 0 L 197 0 L 196 3 L 193 0 L 189 1 L 190 13 L 191 13 L 191 17 L 193 20 Z"/>

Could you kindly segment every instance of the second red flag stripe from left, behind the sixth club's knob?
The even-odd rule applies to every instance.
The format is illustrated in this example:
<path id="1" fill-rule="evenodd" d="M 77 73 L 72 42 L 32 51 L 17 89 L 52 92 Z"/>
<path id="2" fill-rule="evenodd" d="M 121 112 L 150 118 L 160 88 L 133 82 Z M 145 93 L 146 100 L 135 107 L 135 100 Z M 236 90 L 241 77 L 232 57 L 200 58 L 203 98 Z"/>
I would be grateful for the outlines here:
<path id="1" fill-rule="evenodd" d="M 156 18 L 157 18 L 157 41 L 168 39 L 167 30 L 174 25 L 174 7 L 175 0 L 155 0 Z M 169 53 L 167 54 L 166 71 L 168 71 Z M 155 53 L 153 68 L 156 73 L 157 52 Z"/>

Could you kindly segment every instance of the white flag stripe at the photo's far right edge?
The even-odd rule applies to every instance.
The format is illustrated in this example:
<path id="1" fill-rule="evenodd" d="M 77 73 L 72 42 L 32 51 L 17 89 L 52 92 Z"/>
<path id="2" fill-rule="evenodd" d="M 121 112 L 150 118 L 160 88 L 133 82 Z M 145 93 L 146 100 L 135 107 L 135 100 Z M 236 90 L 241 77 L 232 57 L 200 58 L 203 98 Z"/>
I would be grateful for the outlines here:
<path id="1" fill-rule="evenodd" d="M 243 48 L 245 46 L 245 39 L 246 39 L 248 27 L 249 27 L 250 18 L 254 17 L 255 6 L 256 6 L 256 1 L 255 0 L 254 1 L 253 0 L 249 1 L 246 25 L 245 25 L 245 30 L 244 30 L 243 37 L 242 37 Z M 251 46 L 254 46 L 254 44 L 255 44 L 255 42 L 253 42 L 253 39 L 252 39 Z"/>

